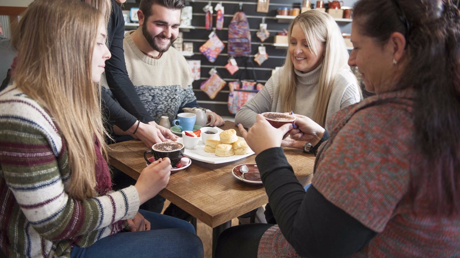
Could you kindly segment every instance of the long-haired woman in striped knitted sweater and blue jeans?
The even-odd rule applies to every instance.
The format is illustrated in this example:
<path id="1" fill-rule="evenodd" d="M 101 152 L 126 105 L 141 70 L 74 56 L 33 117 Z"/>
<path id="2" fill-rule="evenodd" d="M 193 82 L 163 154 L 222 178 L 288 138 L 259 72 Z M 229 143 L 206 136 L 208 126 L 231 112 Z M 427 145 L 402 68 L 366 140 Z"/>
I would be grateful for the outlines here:
<path id="1" fill-rule="evenodd" d="M 95 84 L 110 58 L 106 37 L 102 15 L 78 0 L 36 0 L 14 31 L 17 66 L 0 93 L 8 257 L 203 256 L 191 224 L 138 212 L 167 185 L 169 159 L 112 191 Z"/>

